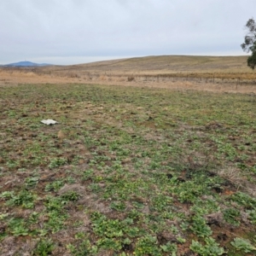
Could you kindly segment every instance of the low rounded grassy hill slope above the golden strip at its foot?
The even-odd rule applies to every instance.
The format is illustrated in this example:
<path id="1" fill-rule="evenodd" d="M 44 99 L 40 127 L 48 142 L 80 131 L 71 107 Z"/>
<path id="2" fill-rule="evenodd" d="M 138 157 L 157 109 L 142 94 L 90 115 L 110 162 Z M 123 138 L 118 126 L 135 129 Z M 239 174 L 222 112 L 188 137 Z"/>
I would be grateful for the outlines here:
<path id="1" fill-rule="evenodd" d="M 247 67 L 247 56 L 193 56 L 193 55 L 160 55 L 130 58 L 116 61 L 100 61 L 73 67 L 112 68 L 113 70 L 163 70 L 169 69 L 175 72 L 200 71 L 220 72 L 243 71 L 250 72 Z M 202 70 L 203 67 L 203 70 Z M 223 70 L 224 69 L 224 70 Z"/>

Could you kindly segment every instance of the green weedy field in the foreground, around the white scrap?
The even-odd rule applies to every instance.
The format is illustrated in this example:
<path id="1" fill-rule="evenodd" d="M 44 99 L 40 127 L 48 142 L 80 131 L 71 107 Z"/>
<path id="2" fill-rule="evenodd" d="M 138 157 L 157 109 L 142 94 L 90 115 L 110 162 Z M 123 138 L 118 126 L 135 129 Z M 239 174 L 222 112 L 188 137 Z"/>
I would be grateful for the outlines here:
<path id="1" fill-rule="evenodd" d="M 24 84 L 0 108 L 2 254 L 254 252 L 253 97 Z"/>

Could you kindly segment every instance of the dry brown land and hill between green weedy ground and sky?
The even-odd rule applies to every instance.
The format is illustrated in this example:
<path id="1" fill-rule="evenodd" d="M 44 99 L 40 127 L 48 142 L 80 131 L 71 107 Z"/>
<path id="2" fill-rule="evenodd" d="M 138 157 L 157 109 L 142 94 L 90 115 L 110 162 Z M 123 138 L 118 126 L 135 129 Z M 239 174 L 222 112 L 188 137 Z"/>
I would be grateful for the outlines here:
<path id="1" fill-rule="evenodd" d="M 73 66 L 0 69 L 0 85 L 45 83 L 255 93 L 256 73 L 247 67 L 247 56 L 185 55 L 147 56 Z"/>

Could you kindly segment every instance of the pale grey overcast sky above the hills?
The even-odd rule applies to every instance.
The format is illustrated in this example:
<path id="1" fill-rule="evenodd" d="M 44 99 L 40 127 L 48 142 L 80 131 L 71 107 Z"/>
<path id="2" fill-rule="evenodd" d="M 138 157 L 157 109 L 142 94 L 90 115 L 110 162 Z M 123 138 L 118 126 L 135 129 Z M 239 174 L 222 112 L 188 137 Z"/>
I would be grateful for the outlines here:
<path id="1" fill-rule="evenodd" d="M 256 0 L 1 0 L 0 64 L 244 55 Z"/>

